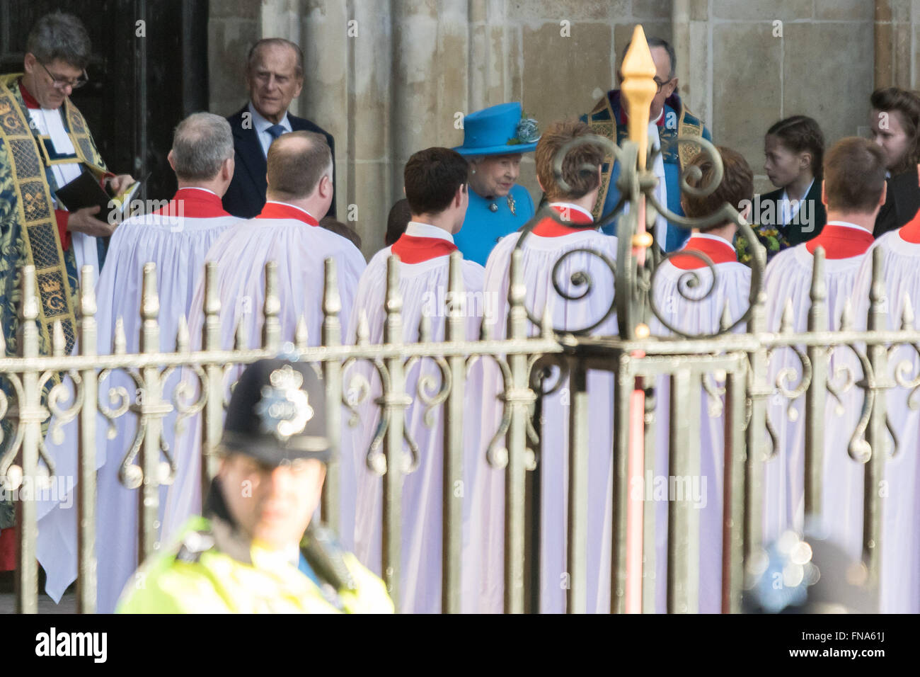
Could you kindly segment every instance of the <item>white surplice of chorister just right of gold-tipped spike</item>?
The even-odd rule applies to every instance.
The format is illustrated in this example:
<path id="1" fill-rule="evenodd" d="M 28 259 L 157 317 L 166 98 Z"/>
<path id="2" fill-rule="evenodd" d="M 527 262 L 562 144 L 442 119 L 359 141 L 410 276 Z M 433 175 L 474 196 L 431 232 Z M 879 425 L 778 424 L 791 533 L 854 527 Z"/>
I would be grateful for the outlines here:
<path id="1" fill-rule="evenodd" d="M 692 246 L 696 239 L 710 239 L 730 247 L 730 243 L 717 236 L 695 233 L 684 249 Z M 732 248 L 733 249 L 733 248 Z M 661 263 L 655 274 L 653 294 L 661 315 L 675 329 L 683 333 L 716 333 L 723 309 L 728 305 L 730 320 L 737 321 L 750 307 L 751 270 L 742 263 L 715 263 L 716 276 L 707 268 L 682 269 L 671 261 Z M 696 282 L 695 284 L 692 284 Z M 712 293 L 702 298 L 711 287 Z M 701 300 L 689 300 L 701 299 Z M 655 336 L 668 336 L 671 331 L 657 318 L 652 318 L 650 331 Z M 743 325 L 735 332 L 744 331 Z M 657 379 L 655 408 L 655 478 L 668 479 L 670 448 L 671 382 L 667 377 Z M 690 496 L 668 496 L 670 500 L 692 501 L 699 511 L 699 612 L 719 613 L 722 580 L 722 496 L 725 472 L 725 419 L 724 414 L 710 415 L 711 398 L 705 389 L 699 391 L 699 472 L 698 495 L 691 490 Z M 724 412 L 724 396 L 719 398 Z M 679 414 L 678 414 L 679 415 Z M 692 475 L 696 472 L 692 472 Z M 653 484 L 654 484 L 653 482 Z M 705 483 L 705 484 L 704 484 Z M 676 485 L 677 483 L 675 483 Z M 691 484 L 693 486 L 692 479 Z M 669 500 L 651 496 L 655 500 L 655 610 L 664 613 L 667 609 L 667 546 L 668 546 L 668 504 Z M 646 500 L 650 496 L 645 496 Z"/>

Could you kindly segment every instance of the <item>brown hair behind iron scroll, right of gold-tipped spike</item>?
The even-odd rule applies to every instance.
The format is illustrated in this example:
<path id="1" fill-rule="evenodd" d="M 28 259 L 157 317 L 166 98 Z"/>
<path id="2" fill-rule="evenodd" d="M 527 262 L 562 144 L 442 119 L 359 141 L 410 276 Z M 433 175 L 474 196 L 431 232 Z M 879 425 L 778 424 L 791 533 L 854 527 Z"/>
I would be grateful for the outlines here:
<path id="1" fill-rule="evenodd" d="M 727 146 L 716 146 L 719 150 L 719 156 L 722 158 L 722 182 L 715 191 L 704 197 L 696 197 L 689 193 L 684 193 L 682 204 L 684 205 L 684 215 L 690 218 L 702 218 L 719 211 L 722 204 L 729 203 L 735 209 L 741 209 L 744 201 L 750 202 L 753 197 L 753 171 L 747 160 L 742 158 L 741 153 L 732 150 Z M 701 176 L 694 180 L 692 177 L 687 178 L 687 184 L 693 188 L 706 187 L 712 183 L 713 176 L 716 173 L 716 165 L 706 153 L 699 153 L 696 158 L 690 162 L 688 167 L 696 167 L 700 170 Z M 710 228 L 718 228 L 721 224 L 713 224 L 708 228 L 700 228 L 703 231 Z"/>

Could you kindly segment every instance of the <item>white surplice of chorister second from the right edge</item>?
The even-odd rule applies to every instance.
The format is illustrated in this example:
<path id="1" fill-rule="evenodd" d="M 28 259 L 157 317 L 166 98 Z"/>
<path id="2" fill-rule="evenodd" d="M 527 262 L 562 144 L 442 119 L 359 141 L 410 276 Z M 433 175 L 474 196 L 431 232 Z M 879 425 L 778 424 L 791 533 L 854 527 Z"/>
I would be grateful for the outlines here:
<path id="1" fill-rule="evenodd" d="M 830 224 L 828 224 L 830 225 Z M 827 228 L 827 227 L 825 227 Z M 853 292 L 859 266 L 865 254 L 824 262 L 824 285 L 827 290 L 827 329 L 840 329 L 845 302 Z M 792 330 L 808 331 L 811 310 L 811 273 L 814 256 L 805 243 L 781 251 L 766 266 L 766 331 L 778 332 L 783 313 L 792 303 Z M 802 348 L 804 352 L 804 348 Z M 828 364 L 832 383 L 835 372 L 848 359 L 845 349 L 838 349 Z M 777 379 L 784 370 L 790 377 L 785 387 L 794 390 L 801 382 L 802 364 L 789 348 L 776 348 L 770 356 L 767 383 L 774 394 L 767 415 L 776 431 L 777 449 L 764 467 L 764 540 L 773 542 L 782 531 L 802 532 L 805 525 L 805 394 L 791 403 L 777 390 Z M 822 473 L 822 524 L 827 534 L 842 545 L 855 559 L 860 553 L 862 534 L 863 468 L 850 458 L 847 446 L 856 427 L 859 411 L 852 398 L 838 401 L 827 393 L 824 417 L 824 469 Z M 790 415 L 791 413 L 791 415 Z M 858 509 L 855 509 L 858 508 Z M 809 525 L 811 528 L 811 524 Z M 822 530 L 823 531 L 823 530 Z"/>

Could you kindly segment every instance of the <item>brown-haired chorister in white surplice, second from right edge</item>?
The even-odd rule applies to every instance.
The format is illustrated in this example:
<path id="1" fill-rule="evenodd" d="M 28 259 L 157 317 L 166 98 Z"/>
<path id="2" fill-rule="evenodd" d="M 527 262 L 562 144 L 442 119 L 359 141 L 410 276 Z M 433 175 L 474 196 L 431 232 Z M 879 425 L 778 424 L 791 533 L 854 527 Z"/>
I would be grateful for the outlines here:
<path id="1" fill-rule="evenodd" d="M 827 224 L 818 237 L 781 251 L 766 266 L 766 329 L 778 332 L 787 306 L 791 329 L 808 331 L 811 309 L 811 274 L 814 252 L 824 250 L 824 286 L 827 292 L 827 329 L 840 329 L 845 303 L 853 293 L 860 265 L 872 245 L 872 228 L 885 202 L 885 160 L 879 146 L 866 139 L 849 137 L 837 142 L 824 158 L 822 202 L 827 207 Z M 821 327 L 820 329 L 825 329 Z M 832 354 L 828 368 L 835 371 L 851 359 L 840 348 Z M 805 528 L 805 397 L 789 400 L 776 389 L 785 369 L 795 376 L 785 380 L 791 389 L 801 380 L 801 361 L 789 348 L 778 348 L 770 356 L 770 399 L 768 416 L 776 429 L 779 448 L 766 461 L 764 473 L 764 539 L 770 543 L 786 529 Z M 837 380 L 837 379 L 834 379 Z M 854 399 L 838 402 L 828 394 L 824 417 L 822 477 L 822 527 L 834 541 L 858 559 L 862 536 L 863 466 L 850 458 L 847 446 L 859 410 Z M 791 412 L 791 415 L 790 415 Z M 811 516 L 812 518 L 816 516 Z M 811 520 L 810 520 L 811 521 Z M 809 524 L 810 528 L 812 526 Z"/>

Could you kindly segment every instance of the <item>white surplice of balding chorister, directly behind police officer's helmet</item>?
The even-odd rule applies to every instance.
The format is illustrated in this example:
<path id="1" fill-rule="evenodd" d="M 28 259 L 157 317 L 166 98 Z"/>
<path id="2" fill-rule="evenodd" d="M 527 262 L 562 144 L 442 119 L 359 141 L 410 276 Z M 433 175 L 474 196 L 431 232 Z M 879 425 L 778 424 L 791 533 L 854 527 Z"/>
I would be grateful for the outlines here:
<path id="1" fill-rule="evenodd" d="M 262 344 L 265 264 L 270 261 L 278 263 L 277 288 L 281 302 L 278 319 L 282 344 L 293 342 L 297 321 L 302 316 L 306 322 L 308 344 L 320 343 L 324 261 L 328 258 L 336 263 L 341 299 L 339 319 L 342 336 L 348 335 L 354 293 L 365 267 L 361 251 L 351 240 L 312 225 L 316 219 L 304 210 L 288 204 L 277 207 L 279 204 L 267 203 L 263 215 L 268 213 L 271 205 L 276 205 L 275 208 L 286 209 L 292 216 L 249 219 L 225 233 L 208 251 L 207 261 L 217 262 L 221 347 L 224 350 L 233 348 L 236 328 L 240 323 L 247 346 Z M 189 328 L 193 347 L 201 345 L 203 307 L 202 277 L 191 303 Z M 241 368 L 232 368 L 225 385 L 235 381 L 241 371 Z M 190 378 L 191 388 L 196 392 L 197 380 Z M 161 532 L 164 541 L 171 540 L 187 519 L 201 512 L 201 423 L 201 414 L 190 417 L 188 426 L 176 439 L 177 473 L 167 495 Z M 343 485 L 342 491 L 347 493 L 350 489 Z M 347 531 L 343 534 L 342 543 L 348 547 Z"/>

